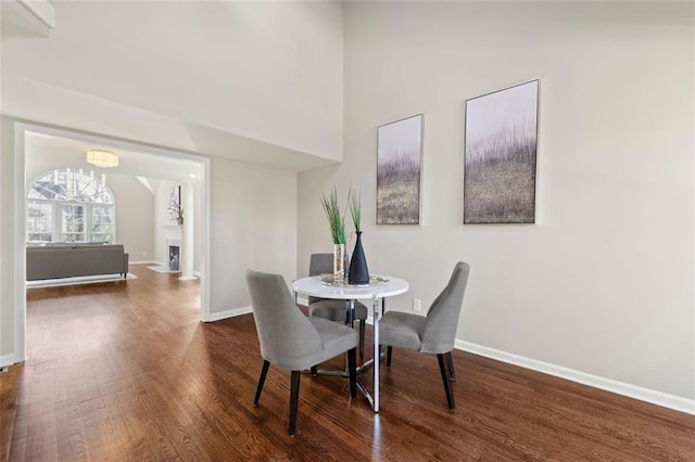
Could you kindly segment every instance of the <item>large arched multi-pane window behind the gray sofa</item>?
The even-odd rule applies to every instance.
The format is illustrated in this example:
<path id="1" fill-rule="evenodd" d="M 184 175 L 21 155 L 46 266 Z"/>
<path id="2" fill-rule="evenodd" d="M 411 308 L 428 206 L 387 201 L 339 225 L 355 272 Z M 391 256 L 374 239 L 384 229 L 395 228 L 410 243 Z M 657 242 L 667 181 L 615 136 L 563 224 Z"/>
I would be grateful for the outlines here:
<path id="1" fill-rule="evenodd" d="M 113 242 L 116 210 L 103 178 L 70 168 L 39 177 L 27 193 L 27 244 Z"/>

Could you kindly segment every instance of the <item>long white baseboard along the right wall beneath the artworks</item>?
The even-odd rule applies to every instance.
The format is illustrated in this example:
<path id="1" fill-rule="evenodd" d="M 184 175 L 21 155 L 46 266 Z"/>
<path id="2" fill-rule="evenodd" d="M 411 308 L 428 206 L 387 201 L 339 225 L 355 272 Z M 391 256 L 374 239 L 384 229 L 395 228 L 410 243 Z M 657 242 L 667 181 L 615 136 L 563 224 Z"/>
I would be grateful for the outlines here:
<path id="1" fill-rule="evenodd" d="M 455 348 L 472 352 L 475 355 L 484 356 L 485 358 L 495 359 L 497 361 L 507 362 L 514 365 L 519 365 L 532 371 L 543 372 L 556 377 L 566 378 L 568 381 L 589 385 L 594 388 L 604 389 L 606 392 L 616 393 L 618 395 L 627 396 L 630 398 L 639 399 L 641 401 L 650 402 L 664 408 L 669 408 L 695 415 L 694 399 L 682 398 L 680 396 L 670 395 L 649 388 L 643 388 L 636 385 L 627 384 L 624 382 L 615 381 L 612 378 L 587 374 L 585 372 L 576 371 L 573 369 L 564 368 L 561 365 L 551 364 L 548 362 L 538 361 L 535 359 L 501 351 L 498 349 L 472 344 L 470 342 L 456 341 Z"/>

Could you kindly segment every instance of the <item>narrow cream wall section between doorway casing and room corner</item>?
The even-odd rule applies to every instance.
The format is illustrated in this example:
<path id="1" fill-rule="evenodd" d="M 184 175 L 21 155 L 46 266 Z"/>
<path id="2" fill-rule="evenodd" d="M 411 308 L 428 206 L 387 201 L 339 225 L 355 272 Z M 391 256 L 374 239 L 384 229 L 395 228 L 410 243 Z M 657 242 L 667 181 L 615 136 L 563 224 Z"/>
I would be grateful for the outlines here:
<path id="1" fill-rule="evenodd" d="M 213 158 L 211 312 L 249 307 L 244 271 L 296 277 L 296 175 Z"/>

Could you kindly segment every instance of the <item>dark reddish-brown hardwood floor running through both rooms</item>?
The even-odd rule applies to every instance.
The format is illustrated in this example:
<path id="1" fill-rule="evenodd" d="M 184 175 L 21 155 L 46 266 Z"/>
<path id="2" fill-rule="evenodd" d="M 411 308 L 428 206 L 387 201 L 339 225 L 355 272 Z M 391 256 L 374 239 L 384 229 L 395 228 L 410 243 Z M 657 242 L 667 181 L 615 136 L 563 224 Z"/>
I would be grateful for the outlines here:
<path id="1" fill-rule="evenodd" d="M 303 375 L 290 438 L 287 371 L 252 406 L 252 316 L 201 323 L 197 281 L 131 272 L 28 291 L 28 359 L 0 373 L 3 460 L 695 461 L 695 416 L 458 350 L 455 411 L 437 358 L 396 349 L 378 415 L 346 380 Z"/>

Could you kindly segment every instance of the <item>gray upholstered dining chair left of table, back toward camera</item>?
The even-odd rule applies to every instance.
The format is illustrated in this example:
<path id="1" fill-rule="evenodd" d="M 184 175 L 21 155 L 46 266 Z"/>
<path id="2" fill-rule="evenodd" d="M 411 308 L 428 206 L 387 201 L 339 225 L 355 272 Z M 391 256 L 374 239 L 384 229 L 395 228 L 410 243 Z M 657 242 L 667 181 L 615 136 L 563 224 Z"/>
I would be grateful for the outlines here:
<path id="1" fill-rule="evenodd" d="M 357 333 L 332 321 L 304 316 L 280 274 L 247 270 L 247 285 L 263 357 L 253 405 L 258 405 L 270 363 L 292 371 L 289 432 L 293 436 L 302 370 L 348 351 L 350 396 L 355 397 Z"/>

